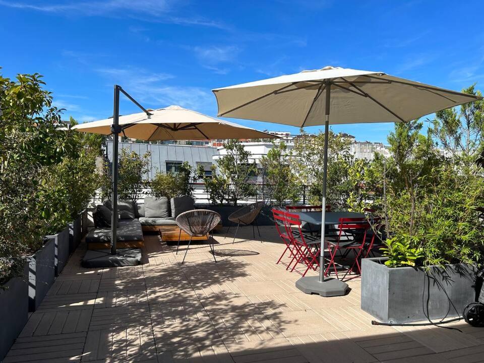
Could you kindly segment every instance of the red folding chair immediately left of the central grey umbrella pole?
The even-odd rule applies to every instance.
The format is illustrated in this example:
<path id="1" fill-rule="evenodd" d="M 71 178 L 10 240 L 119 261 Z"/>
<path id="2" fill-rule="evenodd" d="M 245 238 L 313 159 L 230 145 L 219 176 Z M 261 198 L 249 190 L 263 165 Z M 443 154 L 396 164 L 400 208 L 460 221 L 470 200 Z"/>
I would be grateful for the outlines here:
<path id="1" fill-rule="evenodd" d="M 289 225 L 289 232 L 294 246 L 294 255 L 289 263 L 289 266 L 293 264 L 291 272 L 295 270 L 298 264 L 304 264 L 306 270 L 302 273 L 302 276 L 305 276 L 310 268 L 314 271 L 319 268 L 318 259 L 321 253 L 321 241 L 309 241 L 305 238 L 305 234 L 301 230 L 302 222 L 297 214 L 286 212 L 285 217 L 286 222 Z"/>

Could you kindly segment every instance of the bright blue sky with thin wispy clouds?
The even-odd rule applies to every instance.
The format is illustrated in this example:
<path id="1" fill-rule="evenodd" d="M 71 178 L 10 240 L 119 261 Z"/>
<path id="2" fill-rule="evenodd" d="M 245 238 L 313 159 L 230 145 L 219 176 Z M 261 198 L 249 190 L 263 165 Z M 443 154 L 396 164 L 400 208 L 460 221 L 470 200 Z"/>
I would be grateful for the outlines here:
<path id="1" fill-rule="evenodd" d="M 112 114 L 115 83 L 149 108 L 215 115 L 213 88 L 327 65 L 484 90 L 482 1 L 0 0 L 0 14 L 4 76 L 43 74 L 80 122 Z M 392 129 L 333 127 L 380 142 Z"/>

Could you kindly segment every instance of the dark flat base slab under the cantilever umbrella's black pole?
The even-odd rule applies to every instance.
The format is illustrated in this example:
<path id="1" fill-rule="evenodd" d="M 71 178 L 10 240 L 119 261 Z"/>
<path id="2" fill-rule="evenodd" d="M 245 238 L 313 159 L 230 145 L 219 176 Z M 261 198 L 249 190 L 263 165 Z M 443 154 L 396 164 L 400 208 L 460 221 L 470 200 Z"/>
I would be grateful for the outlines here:
<path id="1" fill-rule="evenodd" d="M 140 264 L 140 249 L 117 249 L 115 255 L 111 255 L 111 250 L 88 250 L 81 262 L 83 267 L 89 268 L 136 266 Z"/>

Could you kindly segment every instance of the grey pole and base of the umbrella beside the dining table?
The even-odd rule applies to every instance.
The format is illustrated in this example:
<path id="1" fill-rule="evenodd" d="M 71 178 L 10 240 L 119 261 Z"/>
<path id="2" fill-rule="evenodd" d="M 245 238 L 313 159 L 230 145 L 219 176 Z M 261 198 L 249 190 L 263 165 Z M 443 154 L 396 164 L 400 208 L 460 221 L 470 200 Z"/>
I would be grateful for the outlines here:
<path id="1" fill-rule="evenodd" d="M 326 230 L 326 179 L 328 175 L 328 138 L 329 138 L 329 111 L 331 105 L 331 81 L 326 81 L 326 106 L 324 124 L 324 159 L 323 159 L 323 196 L 321 212 L 321 253 L 319 258 L 319 276 L 304 276 L 296 281 L 296 287 L 307 294 L 319 294 L 320 296 L 342 296 L 348 291 L 348 284 L 334 279 L 325 278 L 324 264 L 324 233 Z"/>

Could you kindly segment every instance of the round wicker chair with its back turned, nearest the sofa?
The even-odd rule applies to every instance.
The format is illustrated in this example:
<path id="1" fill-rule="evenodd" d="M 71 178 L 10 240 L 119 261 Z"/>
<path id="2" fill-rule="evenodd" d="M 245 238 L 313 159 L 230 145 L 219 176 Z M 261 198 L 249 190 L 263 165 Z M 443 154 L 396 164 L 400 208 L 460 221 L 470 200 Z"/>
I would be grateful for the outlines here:
<path id="1" fill-rule="evenodd" d="M 176 254 L 178 254 L 178 247 L 180 246 L 180 236 L 181 231 L 183 230 L 185 233 L 190 235 L 190 241 L 187 246 L 187 250 L 185 251 L 185 256 L 183 257 L 183 261 L 185 262 L 185 257 L 187 257 L 188 249 L 190 248 L 190 244 L 192 243 L 192 238 L 194 236 L 201 237 L 206 235 L 208 238 L 208 243 L 210 246 L 210 250 L 212 251 L 213 260 L 217 262 L 215 259 L 215 253 L 213 248 L 213 235 L 210 236 L 210 232 L 214 229 L 217 224 L 220 222 L 222 218 L 220 214 L 217 212 L 207 210 L 207 209 L 194 209 L 188 212 L 184 212 L 176 217 L 176 224 L 180 227 L 180 233 L 178 234 L 178 244 L 176 245 Z"/>

